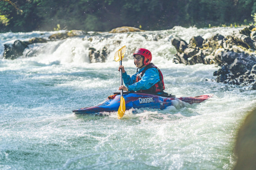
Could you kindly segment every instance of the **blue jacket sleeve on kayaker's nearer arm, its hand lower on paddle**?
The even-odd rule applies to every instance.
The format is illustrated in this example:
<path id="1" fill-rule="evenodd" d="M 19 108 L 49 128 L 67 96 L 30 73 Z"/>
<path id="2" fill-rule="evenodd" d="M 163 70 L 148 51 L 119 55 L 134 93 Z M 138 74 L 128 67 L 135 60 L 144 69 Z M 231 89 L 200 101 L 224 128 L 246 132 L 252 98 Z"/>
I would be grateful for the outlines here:
<path id="1" fill-rule="evenodd" d="M 135 79 L 136 79 L 136 74 L 135 74 Z M 140 81 L 128 86 L 126 84 L 125 85 L 129 91 L 146 90 L 151 88 L 158 81 L 160 81 L 160 77 L 157 69 L 150 68 L 144 73 Z"/>

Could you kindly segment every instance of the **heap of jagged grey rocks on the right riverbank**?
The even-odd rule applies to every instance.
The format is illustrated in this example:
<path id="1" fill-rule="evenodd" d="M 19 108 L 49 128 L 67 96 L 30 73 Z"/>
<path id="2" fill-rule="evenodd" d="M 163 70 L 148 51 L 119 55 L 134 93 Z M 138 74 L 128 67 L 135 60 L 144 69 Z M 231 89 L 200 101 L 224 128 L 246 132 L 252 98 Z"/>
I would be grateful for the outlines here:
<path id="1" fill-rule="evenodd" d="M 213 75 L 217 82 L 229 85 L 250 86 L 256 89 L 256 27 L 245 27 L 239 34 L 210 39 L 192 37 L 189 43 L 174 37 L 172 45 L 177 53 L 174 62 L 186 65 L 216 64 L 219 70 Z"/>

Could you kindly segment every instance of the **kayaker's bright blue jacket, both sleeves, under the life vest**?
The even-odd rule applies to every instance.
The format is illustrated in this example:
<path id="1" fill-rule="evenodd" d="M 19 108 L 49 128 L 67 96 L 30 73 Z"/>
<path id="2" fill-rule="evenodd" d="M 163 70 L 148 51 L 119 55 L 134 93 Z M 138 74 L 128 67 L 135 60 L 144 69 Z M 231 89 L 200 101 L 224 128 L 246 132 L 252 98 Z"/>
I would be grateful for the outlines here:
<path id="1" fill-rule="evenodd" d="M 130 77 L 126 72 L 123 73 L 124 84 L 128 88 L 128 91 L 146 90 L 160 81 L 158 70 L 156 68 L 149 68 L 146 70 L 141 80 L 135 82 L 137 74 L 141 73 L 141 71 L 144 69 L 145 67 L 132 75 L 132 77 Z"/>

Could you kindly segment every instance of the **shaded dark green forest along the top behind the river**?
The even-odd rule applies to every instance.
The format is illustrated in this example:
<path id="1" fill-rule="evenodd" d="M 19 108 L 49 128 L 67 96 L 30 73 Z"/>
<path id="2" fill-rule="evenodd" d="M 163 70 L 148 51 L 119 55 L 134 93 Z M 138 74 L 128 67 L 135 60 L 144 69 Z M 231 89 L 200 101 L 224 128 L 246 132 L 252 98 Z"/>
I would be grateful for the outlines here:
<path id="1" fill-rule="evenodd" d="M 238 26 L 255 13 L 254 0 L 0 0 L 0 31 Z"/>

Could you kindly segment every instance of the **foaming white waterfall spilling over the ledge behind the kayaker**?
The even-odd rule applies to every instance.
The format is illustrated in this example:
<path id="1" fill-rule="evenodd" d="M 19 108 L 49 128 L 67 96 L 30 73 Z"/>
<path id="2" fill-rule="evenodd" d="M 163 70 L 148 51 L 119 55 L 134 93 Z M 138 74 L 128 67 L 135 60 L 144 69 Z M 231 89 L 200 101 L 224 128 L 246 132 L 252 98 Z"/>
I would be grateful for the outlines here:
<path id="1" fill-rule="evenodd" d="M 210 29 L 174 27 L 171 30 L 118 34 L 92 32 L 84 36 L 55 41 L 50 41 L 48 37 L 56 32 L 4 33 L 1 34 L 0 39 L 2 44 L 0 54 L 3 57 L 4 43 L 13 43 L 17 39 L 25 41 L 33 37 L 40 37 L 47 39 L 48 42 L 29 45 L 20 58 L 36 57 L 36 60 L 42 63 L 112 62 L 116 50 L 126 45 L 127 51 L 124 61 L 132 59 L 132 54 L 136 48 L 146 48 L 153 54 L 152 62 L 158 62 L 173 58 L 176 50 L 172 46 L 171 38 L 174 36 L 188 42 L 192 36 L 200 35 L 206 39 L 217 33 L 226 36 L 238 30 L 230 27 Z"/>

